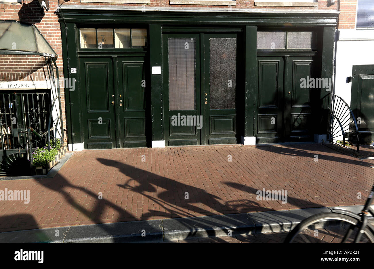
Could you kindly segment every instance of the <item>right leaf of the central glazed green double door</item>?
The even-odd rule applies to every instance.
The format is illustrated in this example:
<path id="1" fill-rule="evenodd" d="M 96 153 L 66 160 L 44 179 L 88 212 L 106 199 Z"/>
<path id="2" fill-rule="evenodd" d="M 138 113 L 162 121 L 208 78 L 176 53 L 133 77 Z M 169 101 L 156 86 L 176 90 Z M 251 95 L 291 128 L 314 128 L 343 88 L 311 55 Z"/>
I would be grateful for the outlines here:
<path id="1" fill-rule="evenodd" d="M 204 34 L 203 144 L 237 143 L 237 34 Z"/>

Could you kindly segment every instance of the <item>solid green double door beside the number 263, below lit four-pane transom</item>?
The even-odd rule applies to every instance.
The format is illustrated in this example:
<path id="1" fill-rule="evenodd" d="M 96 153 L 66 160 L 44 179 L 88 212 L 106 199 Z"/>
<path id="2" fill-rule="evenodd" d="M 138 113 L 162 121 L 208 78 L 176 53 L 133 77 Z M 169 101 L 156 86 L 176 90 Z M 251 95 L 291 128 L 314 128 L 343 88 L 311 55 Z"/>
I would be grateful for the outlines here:
<path id="1" fill-rule="evenodd" d="M 85 149 L 147 146 L 150 94 L 144 57 L 98 55 L 79 60 Z"/>

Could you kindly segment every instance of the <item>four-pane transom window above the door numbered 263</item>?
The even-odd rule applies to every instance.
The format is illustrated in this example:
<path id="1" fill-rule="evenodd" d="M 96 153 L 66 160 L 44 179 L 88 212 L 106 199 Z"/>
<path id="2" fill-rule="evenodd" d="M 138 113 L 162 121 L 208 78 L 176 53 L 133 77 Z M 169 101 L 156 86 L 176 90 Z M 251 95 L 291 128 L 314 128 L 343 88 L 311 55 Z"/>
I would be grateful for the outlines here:
<path id="1" fill-rule="evenodd" d="M 144 48 L 147 29 L 139 28 L 81 28 L 80 48 Z"/>

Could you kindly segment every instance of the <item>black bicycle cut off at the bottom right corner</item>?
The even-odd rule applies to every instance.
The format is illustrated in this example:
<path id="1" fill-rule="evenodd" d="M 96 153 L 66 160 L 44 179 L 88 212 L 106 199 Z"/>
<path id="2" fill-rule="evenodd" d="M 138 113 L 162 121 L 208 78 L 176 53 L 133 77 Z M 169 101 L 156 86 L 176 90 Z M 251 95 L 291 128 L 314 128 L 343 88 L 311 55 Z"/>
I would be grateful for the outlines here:
<path id="1" fill-rule="evenodd" d="M 368 223 L 374 185 L 359 214 L 343 208 L 313 215 L 301 221 L 287 235 L 285 243 L 374 243 L 374 227 Z"/>

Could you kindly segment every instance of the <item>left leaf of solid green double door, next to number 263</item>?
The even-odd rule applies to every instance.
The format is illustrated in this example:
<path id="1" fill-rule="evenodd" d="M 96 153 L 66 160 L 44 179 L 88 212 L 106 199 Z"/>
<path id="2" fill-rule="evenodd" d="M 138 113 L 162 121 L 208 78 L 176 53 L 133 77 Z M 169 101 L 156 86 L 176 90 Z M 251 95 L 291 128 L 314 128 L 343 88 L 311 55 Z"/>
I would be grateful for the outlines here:
<path id="1" fill-rule="evenodd" d="M 80 57 L 82 132 L 86 149 L 116 147 L 113 62 Z M 74 105 L 74 100 L 72 100 Z"/>

